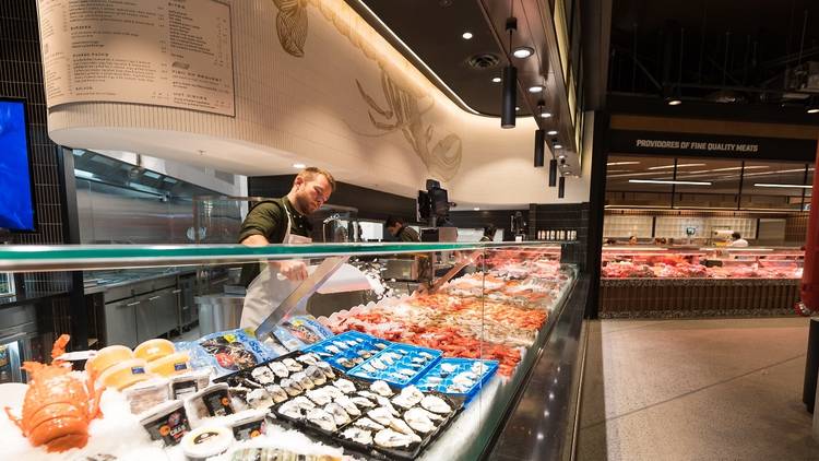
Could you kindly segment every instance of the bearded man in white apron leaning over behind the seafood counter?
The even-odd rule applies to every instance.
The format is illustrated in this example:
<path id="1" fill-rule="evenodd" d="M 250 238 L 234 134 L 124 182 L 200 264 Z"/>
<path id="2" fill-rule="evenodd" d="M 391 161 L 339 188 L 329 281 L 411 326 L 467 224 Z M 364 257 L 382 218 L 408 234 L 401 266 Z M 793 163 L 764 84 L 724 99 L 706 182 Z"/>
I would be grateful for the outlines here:
<path id="1" fill-rule="evenodd" d="M 309 244 L 310 223 L 316 212 L 335 190 L 330 173 L 316 167 L 302 169 L 287 196 L 256 204 L 241 224 L 239 243 L 247 246 Z M 247 286 L 241 310 L 241 328 L 257 328 L 278 307 L 298 284 L 307 279 L 301 260 L 246 264 L 241 283 Z"/>

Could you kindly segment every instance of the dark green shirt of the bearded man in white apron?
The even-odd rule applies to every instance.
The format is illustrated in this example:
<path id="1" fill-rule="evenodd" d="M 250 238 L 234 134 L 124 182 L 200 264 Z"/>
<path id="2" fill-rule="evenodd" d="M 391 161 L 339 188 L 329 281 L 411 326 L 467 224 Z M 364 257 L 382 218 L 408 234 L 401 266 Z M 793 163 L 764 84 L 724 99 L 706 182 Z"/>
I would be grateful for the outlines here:
<path id="1" fill-rule="evenodd" d="M 301 215 L 287 197 L 276 200 L 265 200 L 257 203 L 245 217 L 239 232 L 239 243 L 251 235 L 261 235 L 271 244 L 283 244 L 287 233 L 287 211 L 290 213 L 290 234 L 309 237 L 312 230 L 307 216 Z M 241 268 L 241 284 L 250 285 L 250 282 L 261 272 L 260 264 L 245 264 Z"/>

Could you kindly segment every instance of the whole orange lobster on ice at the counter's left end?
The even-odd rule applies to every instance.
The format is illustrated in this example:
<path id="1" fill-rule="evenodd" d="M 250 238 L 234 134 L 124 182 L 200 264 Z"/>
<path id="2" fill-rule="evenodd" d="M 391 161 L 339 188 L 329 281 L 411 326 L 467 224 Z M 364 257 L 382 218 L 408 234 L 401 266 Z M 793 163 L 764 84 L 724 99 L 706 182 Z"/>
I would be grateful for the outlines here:
<path id="1" fill-rule="evenodd" d="M 94 381 L 82 382 L 71 374 L 71 365 L 58 359 L 66 352 L 69 335 L 57 339 L 51 350 L 51 365 L 23 363 L 28 373 L 28 390 L 23 401 L 23 415 L 15 417 L 10 407 L 5 414 L 35 446 L 62 452 L 83 448 L 88 441 L 88 424 L 99 417 L 99 394 Z"/>

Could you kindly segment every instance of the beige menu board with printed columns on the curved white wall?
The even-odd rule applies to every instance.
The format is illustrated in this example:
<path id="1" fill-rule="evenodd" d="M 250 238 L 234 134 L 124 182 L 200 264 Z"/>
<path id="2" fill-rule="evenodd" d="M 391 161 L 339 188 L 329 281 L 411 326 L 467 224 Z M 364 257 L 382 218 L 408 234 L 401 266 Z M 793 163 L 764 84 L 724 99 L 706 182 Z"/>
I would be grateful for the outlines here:
<path id="1" fill-rule="evenodd" d="M 235 116 L 230 7 L 38 0 L 48 107 L 119 102 Z"/>

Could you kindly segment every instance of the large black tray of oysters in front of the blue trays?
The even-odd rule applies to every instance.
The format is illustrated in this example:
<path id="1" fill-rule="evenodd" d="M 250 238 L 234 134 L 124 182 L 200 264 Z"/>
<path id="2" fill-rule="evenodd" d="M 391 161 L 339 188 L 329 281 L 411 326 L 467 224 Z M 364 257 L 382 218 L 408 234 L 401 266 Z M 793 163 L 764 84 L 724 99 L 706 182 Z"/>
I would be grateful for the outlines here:
<path id="1" fill-rule="evenodd" d="M 343 377 L 276 403 L 276 424 L 372 459 L 412 460 L 463 407 L 462 399 Z"/>

